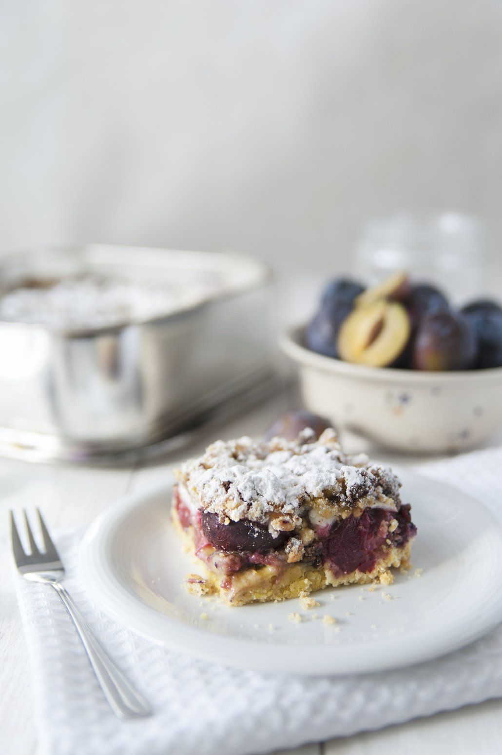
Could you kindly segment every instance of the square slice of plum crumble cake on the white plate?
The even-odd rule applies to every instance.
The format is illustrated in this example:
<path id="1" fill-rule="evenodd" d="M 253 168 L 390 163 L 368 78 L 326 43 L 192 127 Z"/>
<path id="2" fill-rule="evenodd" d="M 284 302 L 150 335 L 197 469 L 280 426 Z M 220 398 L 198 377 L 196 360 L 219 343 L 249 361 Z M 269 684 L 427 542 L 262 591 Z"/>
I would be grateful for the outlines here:
<path id="1" fill-rule="evenodd" d="M 417 528 L 401 483 L 365 455 L 343 453 L 333 429 L 316 439 L 208 446 L 175 471 L 171 508 L 196 557 L 187 589 L 231 606 L 284 600 L 330 585 L 390 584 Z"/>

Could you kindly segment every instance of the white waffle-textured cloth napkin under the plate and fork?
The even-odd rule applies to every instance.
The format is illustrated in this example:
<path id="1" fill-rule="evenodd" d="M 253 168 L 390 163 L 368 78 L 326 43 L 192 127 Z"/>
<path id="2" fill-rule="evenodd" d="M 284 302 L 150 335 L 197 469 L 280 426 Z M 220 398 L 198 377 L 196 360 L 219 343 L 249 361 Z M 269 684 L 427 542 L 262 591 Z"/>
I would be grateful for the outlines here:
<path id="1" fill-rule="evenodd" d="M 502 520 L 500 467 L 502 448 L 493 448 L 420 471 L 473 490 Z M 76 573 L 80 537 L 57 538 L 66 587 L 155 714 L 116 719 L 57 595 L 18 578 L 40 755 L 266 753 L 502 696 L 502 625 L 439 660 L 343 678 L 265 676 L 162 649 L 94 608 Z"/>

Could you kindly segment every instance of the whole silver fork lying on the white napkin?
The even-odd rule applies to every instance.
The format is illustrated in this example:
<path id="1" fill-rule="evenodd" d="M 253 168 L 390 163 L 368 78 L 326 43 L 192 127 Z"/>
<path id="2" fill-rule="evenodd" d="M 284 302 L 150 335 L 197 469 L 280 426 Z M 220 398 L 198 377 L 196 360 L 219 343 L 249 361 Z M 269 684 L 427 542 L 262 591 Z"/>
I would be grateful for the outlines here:
<path id="1" fill-rule="evenodd" d="M 91 631 L 91 627 L 89 627 L 85 618 L 82 617 L 82 614 L 63 585 L 60 584 L 60 580 L 64 575 L 64 566 L 42 519 L 42 514 L 38 509 L 36 511 L 38 513 L 38 521 L 40 523 L 45 550 L 44 552 L 38 550 L 32 528 L 29 525 L 28 516 L 26 515 L 26 511 L 24 511 L 30 553 L 26 553 L 23 548 L 19 532 L 17 532 L 14 513 L 11 511 L 12 553 L 14 554 L 14 561 L 16 562 L 18 571 L 24 578 L 32 582 L 42 582 L 54 587 L 54 590 L 56 590 L 63 601 L 73 624 L 75 624 L 80 639 L 82 639 L 82 645 L 97 676 L 97 681 L 100 683 L 103 694 L 115 716 L 119 716 L 119 718 L 149 716 L 152 710 L 145 698 L 134 689 L 119 667 L 115 665 L 114 661 L 109 658 L 109 655 L 100 646 L 100 643 L 97 642 L 96 637 L 94 637 Z"/>

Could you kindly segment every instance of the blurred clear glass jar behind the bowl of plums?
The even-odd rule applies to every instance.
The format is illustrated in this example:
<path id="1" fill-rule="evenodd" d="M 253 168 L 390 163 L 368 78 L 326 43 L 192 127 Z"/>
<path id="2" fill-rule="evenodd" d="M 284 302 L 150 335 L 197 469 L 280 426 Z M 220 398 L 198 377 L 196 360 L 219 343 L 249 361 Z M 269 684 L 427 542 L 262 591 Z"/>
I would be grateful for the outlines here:
<path id="1" fill-rule="evenodd" d="M 368 284 L 396 270 L 432 283 L 457 303 L 485 294 L 485 223 L 457 212 L 397 213 L 368 220 L 353 257 L 354 276 Z"/>

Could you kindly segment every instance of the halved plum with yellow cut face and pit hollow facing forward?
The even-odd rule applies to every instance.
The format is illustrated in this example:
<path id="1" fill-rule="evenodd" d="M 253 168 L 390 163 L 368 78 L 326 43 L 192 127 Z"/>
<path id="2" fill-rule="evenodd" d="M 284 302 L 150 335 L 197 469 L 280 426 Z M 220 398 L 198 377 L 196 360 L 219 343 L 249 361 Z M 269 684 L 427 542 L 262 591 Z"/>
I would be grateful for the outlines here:
<path id="1" fill-rule="evenodd" d="M 411 325 L 402 304 L 385 300 L 356 307 L 340 328 L 338 349 L 346 362 L 393 365 L 408 344 Z"/>

